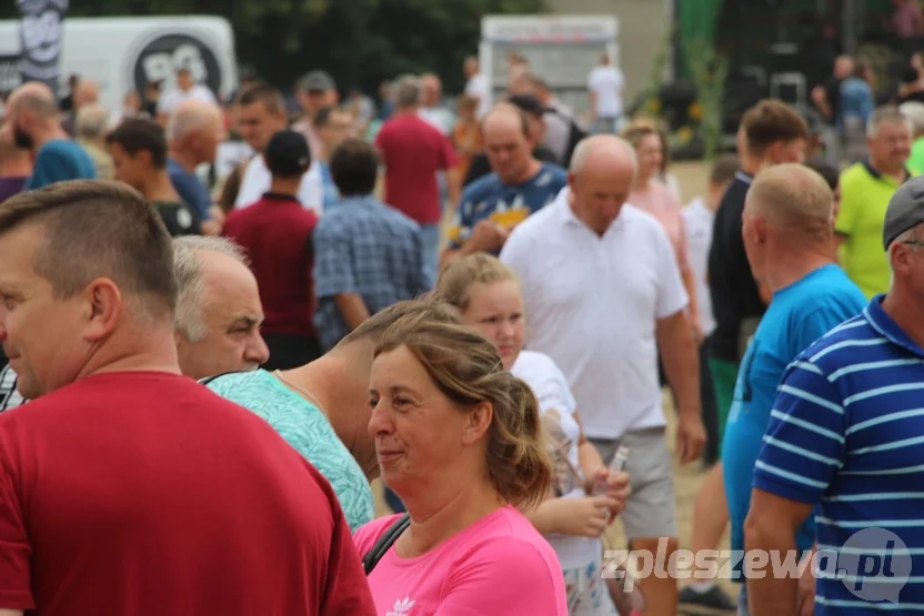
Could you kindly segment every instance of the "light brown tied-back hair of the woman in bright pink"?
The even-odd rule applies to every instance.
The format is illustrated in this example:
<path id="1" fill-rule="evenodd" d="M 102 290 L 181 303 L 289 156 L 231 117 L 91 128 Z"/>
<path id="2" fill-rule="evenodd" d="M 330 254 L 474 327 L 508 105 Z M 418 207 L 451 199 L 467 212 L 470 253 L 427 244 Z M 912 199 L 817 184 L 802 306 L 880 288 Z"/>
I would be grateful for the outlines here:
<path id="1" fill-rule="evenodd" d="M 521 508 L 544 501 L 552 486 L 552 467 L 539 402 L 526 383 L 504 370 L 494 344 L 474 330 L 419 313 L 389 327 L 375 356 L 402 346 L 459 412 L 491 404 L 484 469 L 498 495 Z"/>

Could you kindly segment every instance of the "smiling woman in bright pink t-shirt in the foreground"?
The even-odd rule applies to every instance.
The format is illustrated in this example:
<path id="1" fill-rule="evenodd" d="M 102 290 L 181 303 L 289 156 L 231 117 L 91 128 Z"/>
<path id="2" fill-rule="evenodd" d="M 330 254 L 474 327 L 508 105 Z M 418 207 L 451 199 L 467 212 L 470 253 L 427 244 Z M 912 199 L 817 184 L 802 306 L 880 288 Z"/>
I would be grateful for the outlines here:
<path id="1" fill-rule="evenodd" d="M 439 310 L 395 323 L 372 363 L 369 431 L 410 515 L 369 574 L 376 613 L 568 616 L 555 552 L 516 508 L 552 483 L 536 398 L 493 343 Z M 360 554 L 399 517 L 360 528 Z"/>

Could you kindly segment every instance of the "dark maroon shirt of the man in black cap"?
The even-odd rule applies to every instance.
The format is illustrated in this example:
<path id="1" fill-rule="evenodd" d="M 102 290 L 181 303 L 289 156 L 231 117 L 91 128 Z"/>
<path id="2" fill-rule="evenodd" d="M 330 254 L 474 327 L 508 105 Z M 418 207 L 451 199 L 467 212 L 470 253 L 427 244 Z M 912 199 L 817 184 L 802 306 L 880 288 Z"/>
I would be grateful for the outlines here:
<path id="1" fill-rule="evenodd" d="M 260 286 L 265 321 L 263 333 L 314 336 L 314 256 L 311 233 L 318 215 L 288 194 L 232 210 L 224 235 L 247 252 Z"/>

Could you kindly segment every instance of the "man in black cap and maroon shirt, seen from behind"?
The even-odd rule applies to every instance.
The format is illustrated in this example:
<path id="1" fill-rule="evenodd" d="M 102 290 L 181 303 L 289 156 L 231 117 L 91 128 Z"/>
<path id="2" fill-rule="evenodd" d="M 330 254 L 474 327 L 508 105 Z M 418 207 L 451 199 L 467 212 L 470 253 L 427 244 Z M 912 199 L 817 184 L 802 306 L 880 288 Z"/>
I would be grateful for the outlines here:
<path id="1" fill-rule="evenodd" d="M 265 314 L 262 334 L 270 349 L 265 367 L 288 370 L 321 355 L 311 322 L 311 235 L 318 215 L 297 196 L 311 154 L 304 137 L 284 130 L 270 139 L 263 160 L 272 176 L 270 191 L 253 205 L 232 211 L 223 233 L 244 249 L 257 276 Z"/>

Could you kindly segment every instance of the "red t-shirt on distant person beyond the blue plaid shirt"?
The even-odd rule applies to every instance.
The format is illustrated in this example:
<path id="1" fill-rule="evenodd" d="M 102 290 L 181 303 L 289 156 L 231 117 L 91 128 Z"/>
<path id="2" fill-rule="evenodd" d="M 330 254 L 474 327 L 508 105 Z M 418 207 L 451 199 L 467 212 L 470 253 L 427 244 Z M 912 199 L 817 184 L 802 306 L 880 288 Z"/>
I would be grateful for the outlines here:
<path id="1" fill-rule="evenodd" d="M 385 203 L 421 224 L 442 216 L 436 172 L 458 164 L 452 143 L 416 115 L 399 114 L 375 138 L 385 163 Z"/>

